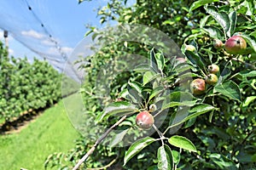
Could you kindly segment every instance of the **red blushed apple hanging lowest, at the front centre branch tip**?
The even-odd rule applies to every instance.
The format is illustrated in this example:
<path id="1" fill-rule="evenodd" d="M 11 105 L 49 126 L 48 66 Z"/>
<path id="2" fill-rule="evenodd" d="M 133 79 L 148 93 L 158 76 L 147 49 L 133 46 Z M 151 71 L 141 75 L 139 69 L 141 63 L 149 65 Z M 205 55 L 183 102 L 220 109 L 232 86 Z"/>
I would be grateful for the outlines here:
<path id="1" fill-rule="evenodd" d="M 154 117 L 148 111 L 142 111 L 137 114 L 136 124 L 145 130 L 149 129 L 154 124 Z"/>

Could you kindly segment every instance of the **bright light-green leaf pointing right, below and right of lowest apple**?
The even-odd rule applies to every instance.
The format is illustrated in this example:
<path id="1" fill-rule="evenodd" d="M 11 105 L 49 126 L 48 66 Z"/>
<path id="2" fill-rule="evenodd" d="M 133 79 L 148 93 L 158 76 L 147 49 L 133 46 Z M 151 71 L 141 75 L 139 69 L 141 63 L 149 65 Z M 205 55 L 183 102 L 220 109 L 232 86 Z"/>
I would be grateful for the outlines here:
<path id="1" fill-rule="evenodd" d="M 176 146 L 183 150 L 189 150 L 194 152 L 197 151 L 195 145 L 189 139 L 183 136 L 174 135 L 170 139 L 168 139 L 168 142 L 173 146 Z"/>

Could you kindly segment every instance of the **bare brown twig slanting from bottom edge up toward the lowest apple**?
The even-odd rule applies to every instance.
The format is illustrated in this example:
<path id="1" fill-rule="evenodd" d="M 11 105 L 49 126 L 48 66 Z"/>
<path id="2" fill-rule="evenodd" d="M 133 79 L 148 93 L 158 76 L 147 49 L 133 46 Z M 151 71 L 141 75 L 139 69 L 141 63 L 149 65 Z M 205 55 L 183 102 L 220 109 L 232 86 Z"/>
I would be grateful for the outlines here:
<path id="1" fill-rule="evenodd" d="M 122 116 L 122 118 L 119 119 L 118 122 L 115 122 L 112 127 L 108 128 L 108 130 L 102 134 L 102 136 L 96 140 L 96 143 L 90 148 L 90 150 L 79 160 L 79 162 L 76 164 L 75 167 L 73 167 L 73 170 L 77 170 L 81 164 L 87 160 L 87 158 L 93 153 L 93 151 L 96 149 L 97 145 L 102 143 L 102 140 L 105 139 L 108 136 L 108 133 L 110 133 L 114 127 L 117 127 L 121 122 L 125 120 L 126 116 Z"/>

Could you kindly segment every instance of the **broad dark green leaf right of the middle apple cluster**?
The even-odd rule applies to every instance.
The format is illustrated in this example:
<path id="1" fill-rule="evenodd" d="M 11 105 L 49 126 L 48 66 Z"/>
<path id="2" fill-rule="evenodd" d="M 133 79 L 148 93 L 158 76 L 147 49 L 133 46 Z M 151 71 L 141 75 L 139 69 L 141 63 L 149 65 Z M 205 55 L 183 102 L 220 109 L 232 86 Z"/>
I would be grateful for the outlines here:
<path id="1" fill-rule="evenodd" d="M 236 99 L 241 102 L 240 89 L 236 82 L 228 81 L 220 83 L 213 88 L 213 93 L 218 92 L 224 96 L 229 97 L 230 99 Z"/>

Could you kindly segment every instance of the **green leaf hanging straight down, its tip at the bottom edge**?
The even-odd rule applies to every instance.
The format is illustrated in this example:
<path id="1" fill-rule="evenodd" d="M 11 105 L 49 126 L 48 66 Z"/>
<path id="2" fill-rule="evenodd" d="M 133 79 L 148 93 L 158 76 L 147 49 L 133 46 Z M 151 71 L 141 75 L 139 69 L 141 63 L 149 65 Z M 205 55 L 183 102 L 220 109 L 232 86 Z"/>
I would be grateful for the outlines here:
<path id="1" fill-rule="evenodd" d="M 160 146 L 157 150 L 158 169 L 169 170 L 173 168 L 172 150 L 168 145 Z"/>

